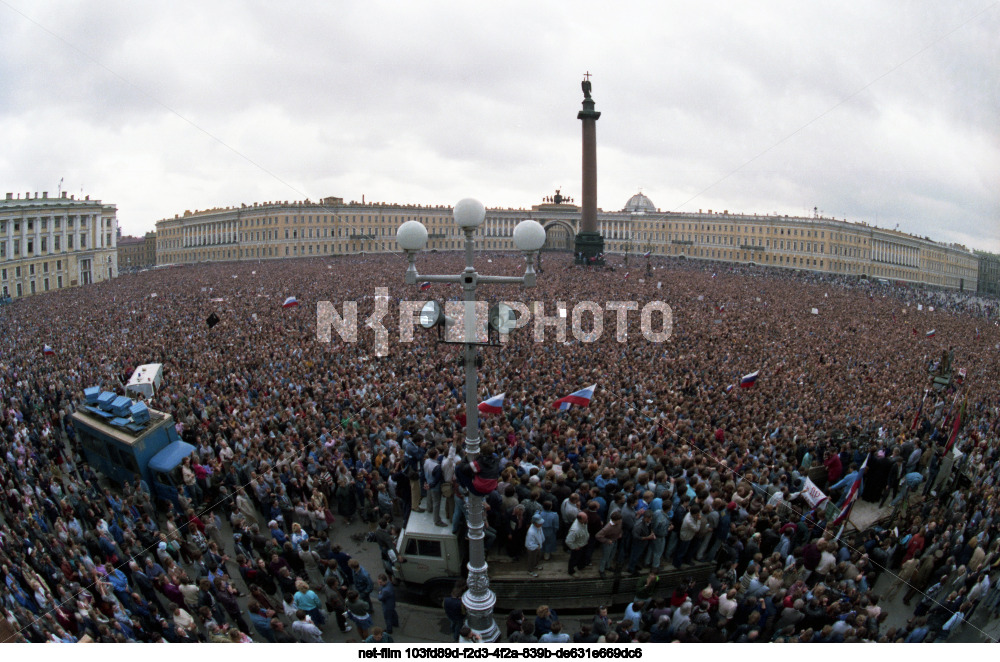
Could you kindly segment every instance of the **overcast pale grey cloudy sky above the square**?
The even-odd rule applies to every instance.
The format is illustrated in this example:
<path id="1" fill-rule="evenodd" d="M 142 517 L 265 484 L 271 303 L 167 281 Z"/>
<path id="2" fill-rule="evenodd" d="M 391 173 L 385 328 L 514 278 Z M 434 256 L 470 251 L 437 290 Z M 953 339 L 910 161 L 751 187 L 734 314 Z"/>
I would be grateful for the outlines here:
<path id="1" fill-rule="evenodd" d="M 1000 3 L 0 0 L 0 182 L 185 209 L 334 195 L 811 214 L 1000 251 Z"/>

